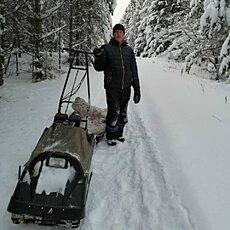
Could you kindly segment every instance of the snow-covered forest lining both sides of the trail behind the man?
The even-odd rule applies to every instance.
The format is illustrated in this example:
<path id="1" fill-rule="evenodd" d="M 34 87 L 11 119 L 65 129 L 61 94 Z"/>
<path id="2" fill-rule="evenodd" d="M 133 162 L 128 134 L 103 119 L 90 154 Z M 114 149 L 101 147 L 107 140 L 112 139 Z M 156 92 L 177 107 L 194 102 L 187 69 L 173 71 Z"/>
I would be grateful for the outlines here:
<path id="1" fill-rule="evenodd" d="M 229 81 L 230 8 L 225 0 L 131 0 L 121 19 L 137 56 L 165 56 Z M 116 0 L 0 0 L 0 85 L 9 63 L 29 57 L 33 82 L 52 78 L 63 48 L 90 51 L 111 37 Z"/>

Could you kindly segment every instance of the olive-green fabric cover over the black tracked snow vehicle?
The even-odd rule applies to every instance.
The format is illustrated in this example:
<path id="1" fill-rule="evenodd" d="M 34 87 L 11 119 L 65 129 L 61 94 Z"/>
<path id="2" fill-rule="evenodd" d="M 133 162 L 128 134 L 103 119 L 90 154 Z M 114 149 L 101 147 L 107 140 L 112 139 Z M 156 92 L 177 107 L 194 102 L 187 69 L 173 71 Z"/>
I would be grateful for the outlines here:
<path id="1" fill-rule="evenodd" d="M 80 161 L 84 173 L 87 173 L 90 168 L 92 147 L 84 129 L 57 123 L 45 128 L 29 162 L 43 152 L 69 153 Z"/>

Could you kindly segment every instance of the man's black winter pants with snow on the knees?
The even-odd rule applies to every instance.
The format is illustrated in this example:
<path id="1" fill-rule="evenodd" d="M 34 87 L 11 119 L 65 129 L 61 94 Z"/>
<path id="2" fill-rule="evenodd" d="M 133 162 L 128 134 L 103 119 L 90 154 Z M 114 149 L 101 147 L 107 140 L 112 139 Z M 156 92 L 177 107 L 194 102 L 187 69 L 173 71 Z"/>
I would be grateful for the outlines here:
<path id="1" fill-rule="evenodd" d="M 130 99 L 131 88 L 106 89 L 107 116 L 106 138 L 117 139 L 123 134 L 124 126 L 128 122 L 127 108 Z"/>

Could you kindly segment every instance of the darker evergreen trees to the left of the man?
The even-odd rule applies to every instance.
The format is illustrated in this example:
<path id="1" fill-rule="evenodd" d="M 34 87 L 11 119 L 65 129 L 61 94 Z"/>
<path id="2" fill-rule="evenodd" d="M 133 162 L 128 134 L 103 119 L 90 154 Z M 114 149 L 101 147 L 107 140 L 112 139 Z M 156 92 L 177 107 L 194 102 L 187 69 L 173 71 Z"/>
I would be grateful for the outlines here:
<path id="1" fill-rule="evenodd" d="M 36 82 L 53 77 L 52 52 L 89 51 L 108 40 L 115 5 L 116 0 L 0 0 L 0 83 L 12 55 L 32 57 Z"/>

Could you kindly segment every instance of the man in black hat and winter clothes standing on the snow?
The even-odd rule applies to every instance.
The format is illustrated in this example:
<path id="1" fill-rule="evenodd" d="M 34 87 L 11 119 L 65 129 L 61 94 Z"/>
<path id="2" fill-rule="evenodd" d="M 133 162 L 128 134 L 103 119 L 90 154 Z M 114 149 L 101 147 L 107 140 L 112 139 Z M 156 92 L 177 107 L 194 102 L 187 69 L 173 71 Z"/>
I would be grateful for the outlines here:
<path id="1" fill-rule="evenodd" d="M 104 71 L 107 116 L 106 138 L 108 145 L 125 141 L 123 130 L 127 120 L 127 107 L 134 88 L 134 102 L 140 101 L 140 84 L 134 52 L 124 39 L 125 28 L 121 24 L 113 27 L 113 37 L 108 44 L 94 49 L 94 68 Z"/>

